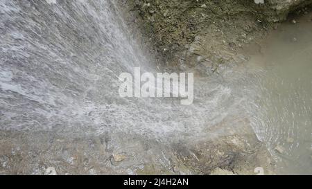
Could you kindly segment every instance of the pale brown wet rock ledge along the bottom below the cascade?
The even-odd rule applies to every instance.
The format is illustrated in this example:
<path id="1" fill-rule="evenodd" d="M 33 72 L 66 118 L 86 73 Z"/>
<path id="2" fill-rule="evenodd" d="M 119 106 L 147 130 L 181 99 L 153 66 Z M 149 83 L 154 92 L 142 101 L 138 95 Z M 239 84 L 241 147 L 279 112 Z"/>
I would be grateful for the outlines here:
<path id="1" fill-rule="evenodd" d="M 268 151 L 253 134 L 196 143 L 159 143 L 110 134 L 71 138 L 53 132 L 0 133 L 0 174 L 271 174 Z M 131 143 L 129 143 L 131 141 Z M 219 172 L 224 174 L 224 172 Z"/>

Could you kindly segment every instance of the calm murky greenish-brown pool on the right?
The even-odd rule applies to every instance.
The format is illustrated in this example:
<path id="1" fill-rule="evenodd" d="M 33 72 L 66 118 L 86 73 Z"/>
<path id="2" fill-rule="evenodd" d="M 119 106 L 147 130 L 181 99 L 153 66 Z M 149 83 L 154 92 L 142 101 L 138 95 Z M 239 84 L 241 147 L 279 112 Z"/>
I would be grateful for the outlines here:
<path id="1" fill-rule="evenodd" d="M 269 35 L 251 62 L 264 70 L 253 126 L 278 174 L 312 174 L 312 14 Z"/>

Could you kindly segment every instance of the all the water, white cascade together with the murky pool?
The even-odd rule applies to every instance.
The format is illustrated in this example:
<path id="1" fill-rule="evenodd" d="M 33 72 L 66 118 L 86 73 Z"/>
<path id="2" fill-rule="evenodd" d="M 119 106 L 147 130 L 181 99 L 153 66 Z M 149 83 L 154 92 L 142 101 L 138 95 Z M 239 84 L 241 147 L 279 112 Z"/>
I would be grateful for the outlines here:
<path id="1" fill-rule="evenodd" d="M 251 123 L 280 173 L 312 173 L 311 23 L 285 24 L 265 56 L 247 65 L 196 76 L 193 105 L 183 106 L 174 98 L 119 97 L 121 73 L 162 68 L 126 32 L 114 1 L 0 1 L 2 131 L 115 134 L 111 145 L 130 154 L 142 151 L 128 148 L 137 136 L 196 143 Z"/>

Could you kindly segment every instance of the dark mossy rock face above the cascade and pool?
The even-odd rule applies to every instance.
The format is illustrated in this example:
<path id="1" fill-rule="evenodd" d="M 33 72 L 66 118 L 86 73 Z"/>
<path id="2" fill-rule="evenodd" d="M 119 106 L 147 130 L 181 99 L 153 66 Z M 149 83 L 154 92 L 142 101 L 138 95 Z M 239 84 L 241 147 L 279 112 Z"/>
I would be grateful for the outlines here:
<path id="1" fill-rule="evenodd" d="M 192 53 L 188 51 L 189 46 L 198 36 L 207 41 L 207 44 L 200 48 L 211 48 L 208 53 L 199 55 L 219 64 L 214 59 L 218 59 L 218 54 L 222 54 L 223 50 L 243 47 L 266 33 L 273 22 L 284 20 L 291 10 L 311 2 L 130 0 L 124 3 L 130 5 L 130 9 L 137 15 L 137 20 L 141 20 L 142 30 L 153 41 L 159 53 L 162 53 L 171 65 L 179 66 L 181 57 L 184 62 L 192 62 L 185 53 Z M 227 58 L 221 59 L 228 61 Z"/>

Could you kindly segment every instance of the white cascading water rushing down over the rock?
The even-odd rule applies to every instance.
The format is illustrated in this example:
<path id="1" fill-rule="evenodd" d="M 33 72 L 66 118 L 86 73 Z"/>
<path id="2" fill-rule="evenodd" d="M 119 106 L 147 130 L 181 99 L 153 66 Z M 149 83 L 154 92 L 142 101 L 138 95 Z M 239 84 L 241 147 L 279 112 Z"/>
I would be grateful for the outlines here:
<path id="1" fill-rule="evenodd" d="M 2 1 L 1 15 L 1 129 L 198 138 L 240 102 L 213 78 L 195 81 L 191 106 L 119 98 L 120 73 L 157 69 L 112 1 Z"/>

